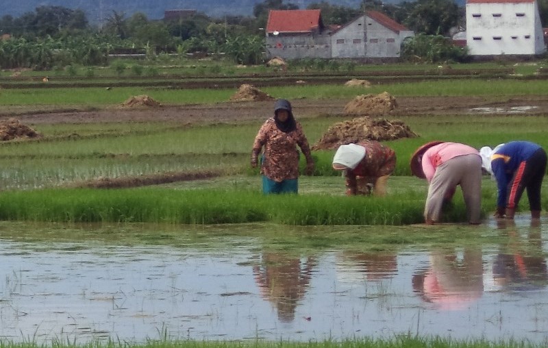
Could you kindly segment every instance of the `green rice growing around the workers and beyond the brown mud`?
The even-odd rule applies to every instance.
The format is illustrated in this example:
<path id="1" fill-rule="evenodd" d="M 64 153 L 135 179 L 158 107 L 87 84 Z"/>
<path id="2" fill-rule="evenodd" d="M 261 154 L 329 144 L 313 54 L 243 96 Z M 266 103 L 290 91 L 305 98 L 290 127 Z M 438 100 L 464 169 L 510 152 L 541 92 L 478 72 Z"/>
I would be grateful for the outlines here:
<path id="1" fill-rule="evenodd" d="M 324 99 L 351 97 L 363 90 L 338 86 L 287 86 L 264 88 L 275 97 Z M 368 92 L 398 96 L 484 95 L 503 101 L 512 95 L 545 95 L 541 81 L 519 79 L 456 80 L 373 86 Z M 84 88 L 82 90 L 2 90 L 0 103 L 42 103 L 112 107 L 122 95 L 147 93 L 162 103 L 217 103 L 233 90 L 144 90 Z M 55 97 L 53 97 L 55 95 Z M 55 99 L 60 98 L 62 99 Z M 88 106 L 89 106 L 88 105 Z M 333 123 L 336 115 L 297 115 L 310 144 Z M 268 221 L 291 225 L 401 225 L 422 221 L 425 184 L 408 177 L 408 162 L 416 147 L 429 140 L 464 142 L 473 147 L 495 146 L 523 139 L 548 148 L 546 116 L 526 115 L 424 115 L 401 116 L 419 134 L 386 142 L 397 153 L 390 198 L 340 197 L 344 180 L 331 166 L 334 151 L 314 151 L 314 177 L 301 177 L 297 197 L 263 197 L 258 171 L 249 167 L 253 138 L 262 124 L 235 121 L 214 125 L 166 122 L 62 123 L 31 125 L 42 134 L 38 140 L 0 144 L 0 219 L 31 221 L 140 221 L 169 223 L 244 223 Z M 101 179 L 132 180 L 145 175 L 180 175 L 210 172 L 214 178 L 149 188 L 121 190 L 84 189 Z M 494 206 L 495 189 L 486 180 L 484 214 Z M 80 187 L 80 188 L 79 188 Z M 417 188 L 418 187 L 418 188 Z M 404 189 L 407 188 L 407 189 Z M 394 202 L 397 203 L 394 203 Z M 284 207 L 284 209 L 279 208 Z M 353 208 L 360 206 L 360 210 Z M 290 214 L 287 213 L 290 212 Z M 447 221 L 462 221 L 462 202 L 447 214 Z"/>

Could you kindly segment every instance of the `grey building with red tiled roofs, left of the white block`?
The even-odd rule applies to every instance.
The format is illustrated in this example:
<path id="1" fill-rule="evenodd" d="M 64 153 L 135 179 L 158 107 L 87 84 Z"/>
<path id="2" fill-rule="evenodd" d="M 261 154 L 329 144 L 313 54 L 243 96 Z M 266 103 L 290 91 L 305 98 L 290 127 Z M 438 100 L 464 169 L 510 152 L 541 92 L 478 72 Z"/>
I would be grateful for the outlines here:
<path id="1" fill-rule="evenodd" d="M 397 58 L 414 33 L 390 17 L 367 11 L 346 25 L 323 24 L 320 10 L 271 10 L 268 58 Z"/>

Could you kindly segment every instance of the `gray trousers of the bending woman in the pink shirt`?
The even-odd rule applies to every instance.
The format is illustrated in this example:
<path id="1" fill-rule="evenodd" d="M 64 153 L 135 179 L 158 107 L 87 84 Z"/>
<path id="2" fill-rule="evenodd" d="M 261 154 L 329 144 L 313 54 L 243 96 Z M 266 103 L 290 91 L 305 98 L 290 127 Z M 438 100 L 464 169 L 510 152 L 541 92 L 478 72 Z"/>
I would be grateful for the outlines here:
<path id="1" fill-rule="evenodd" d="M 436 168 L 428 187 L 424 209 L 426 220 L 440 221 L 443 199 L 457 185 L 462 189 L 470 223 L 479 223 L 482 211 L 482 158 L 471 154 L 451 158 Z"/>

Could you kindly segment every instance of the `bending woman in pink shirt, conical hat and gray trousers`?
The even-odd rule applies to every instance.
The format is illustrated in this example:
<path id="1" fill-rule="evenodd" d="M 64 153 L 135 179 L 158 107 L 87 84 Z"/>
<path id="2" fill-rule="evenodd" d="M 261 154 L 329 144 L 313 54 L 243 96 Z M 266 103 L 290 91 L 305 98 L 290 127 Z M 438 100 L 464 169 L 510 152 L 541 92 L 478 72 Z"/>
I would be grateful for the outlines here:
<path id="1" fill-rule="evenodd" d="M 440 221 L 444 201 L 460 185 L 471 224 L 479 224 L 482 210 L 482 157 L 459 142 L 434 141 L 419 147 L 411 157 L 413 175 L 429 183 L 424 209 L 427 225 Z"/>

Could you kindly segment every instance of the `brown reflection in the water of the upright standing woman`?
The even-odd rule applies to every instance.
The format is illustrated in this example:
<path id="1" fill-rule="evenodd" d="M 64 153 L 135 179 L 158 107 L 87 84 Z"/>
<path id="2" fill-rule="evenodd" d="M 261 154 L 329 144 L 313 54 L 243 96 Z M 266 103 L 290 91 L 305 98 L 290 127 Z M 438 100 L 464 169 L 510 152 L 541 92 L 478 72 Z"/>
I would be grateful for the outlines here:
<path id="1" fill-rule="evenodd" d="M 253 274 L 264 297 L 277 308 L 280 321 L 295 319 L 297 303 L 304 297 L 316 262 L 302 262 L 282 253 L 264 253 L 262 265 L 253 267 Z"/>

